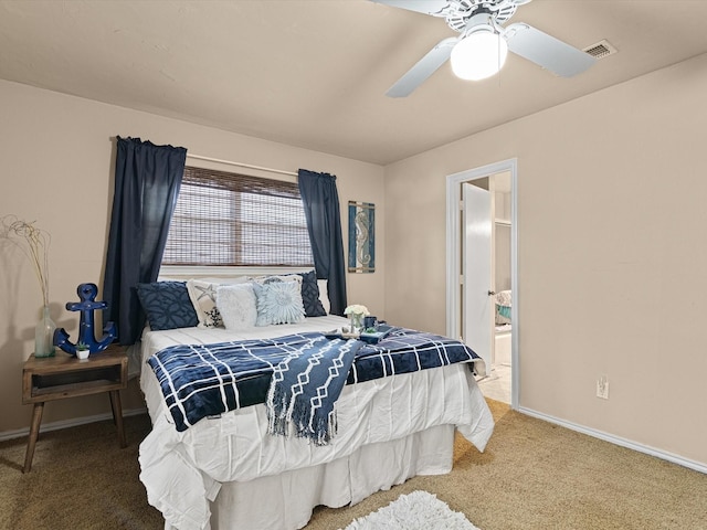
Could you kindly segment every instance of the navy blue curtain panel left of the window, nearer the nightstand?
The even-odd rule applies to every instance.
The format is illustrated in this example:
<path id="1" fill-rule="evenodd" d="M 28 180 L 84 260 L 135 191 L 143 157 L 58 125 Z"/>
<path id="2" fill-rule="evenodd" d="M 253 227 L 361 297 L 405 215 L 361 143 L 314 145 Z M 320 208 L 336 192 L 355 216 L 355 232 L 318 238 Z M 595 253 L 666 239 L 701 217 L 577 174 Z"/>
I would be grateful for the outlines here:
<path id="1" fill-rule="evenodd" d="M 115 322 L 120 344 L 135 343 L 145 326 L 136 287 L 159 274 L 186 161 L 183 147 L 117 138 L 103 292 L 104 321 Z"/>

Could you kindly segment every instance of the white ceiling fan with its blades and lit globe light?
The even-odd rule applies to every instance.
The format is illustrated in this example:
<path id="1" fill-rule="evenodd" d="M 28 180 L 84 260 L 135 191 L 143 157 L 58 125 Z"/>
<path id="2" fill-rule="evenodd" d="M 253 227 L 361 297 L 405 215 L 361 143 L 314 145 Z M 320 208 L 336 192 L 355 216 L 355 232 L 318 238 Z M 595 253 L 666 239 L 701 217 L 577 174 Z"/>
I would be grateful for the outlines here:
<path id="1" fill-rule="evenodd" d="M 490 77 L 503 67 L 508 51 L 562 77 L 584 72 L 595 59 L 523 22 L 503 26 L 518 6 L 531 0 L 372 0 L 446 20 L 460 32 L 439 42 L 386 95 L 405 97 L 447 60 L 464 80 Z"/>

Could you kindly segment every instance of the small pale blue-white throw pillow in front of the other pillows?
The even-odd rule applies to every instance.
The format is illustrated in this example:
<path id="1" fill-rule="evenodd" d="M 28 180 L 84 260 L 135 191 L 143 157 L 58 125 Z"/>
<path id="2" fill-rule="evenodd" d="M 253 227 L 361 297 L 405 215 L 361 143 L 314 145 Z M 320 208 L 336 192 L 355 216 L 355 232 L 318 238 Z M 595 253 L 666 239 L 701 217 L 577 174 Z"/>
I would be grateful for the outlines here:
<path id="1" fill-rule="evenodd" d="M 295 324 L 305 319 L 299 282 L 273 282 L 253 285 L 257 299 L 255 326 Z"/>

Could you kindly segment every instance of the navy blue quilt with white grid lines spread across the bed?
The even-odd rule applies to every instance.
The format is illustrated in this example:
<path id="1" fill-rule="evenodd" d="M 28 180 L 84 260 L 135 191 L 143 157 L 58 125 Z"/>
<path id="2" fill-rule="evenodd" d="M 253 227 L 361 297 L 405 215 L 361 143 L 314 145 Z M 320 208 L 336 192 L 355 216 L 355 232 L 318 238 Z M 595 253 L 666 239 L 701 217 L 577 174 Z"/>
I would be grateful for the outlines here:
<path id="1" fill-rule="evenodd" d="M 178 344 L 157 352 L 147 362 L 159 381 L 175 426 L 181 432 L 204 417 L 265 403 L 271 383 L 278 377 L 283 377 L 282 370 L 279 375 L 274 377 L 281 363 L 289 363 L 294 359 L 302 358 L 300 367 L 291 373 L 295 379 L 303 373 L 303 370 L 312 369 L 309 361 L 306 361 L 307 356 L 303 357 L 302 352 L 320 354 L 321 348 L 334 352 L 328 361 L 314 363 L 326 367 L 324 368 L 326 373 L 309 378 L 313 382 L 306 390 L 310 393 L 308 399 L 315 398 L 316 401 L 321 398 L 317 394 L 317 388 L 320 386 L 323 378 L 331 379 L 329 381 L 329 384 L 333 384 L 331 392 L 327 392 L 326 396 L 330 400 L 331 406 L 338 396 L 336 388 L 344 385 L 341 382 L 345 378 L 346 384 L 354 384 L 479 359 L 469 347 L 458 340 L 404 328 L 397 328 L 376 344 L 363 344 L 355 340 L 338 340 L 338 346 L 334 349 L 328 344 L 331 342 L 330 339 L 318 332 L 217 344 Z M 344 348 L 344 344 L 356 346 Z M 339 347 L 346 350 L 348 358 L 338 357 Z M 351 359 L 351 363 L 346 370 L 348 359 Z M 333 363 L 339 364 L 334 374 L 330 373 Z M 335 380 L 337 382 L 334 382 Z M 293 389 L 293 383 L 285 384 Z M 299 390 L 295 389 L 295 393 Z M 283 406 L 289 406 L 289 402 Z M 328 406 L 326 404 L 320 413 L 326 415 L 327 422 L 330 422 Z M 279 410 L 282 412 L 283 409 Z M 316 421 L 319 420 L 320 417 Z M 317 442 L 316 436 L 320 431 L 314 428 L 312 432 L 317 433 L 310 436 Z M 327 436 L 325 434 L 320 442 L 326 443 Z"/>

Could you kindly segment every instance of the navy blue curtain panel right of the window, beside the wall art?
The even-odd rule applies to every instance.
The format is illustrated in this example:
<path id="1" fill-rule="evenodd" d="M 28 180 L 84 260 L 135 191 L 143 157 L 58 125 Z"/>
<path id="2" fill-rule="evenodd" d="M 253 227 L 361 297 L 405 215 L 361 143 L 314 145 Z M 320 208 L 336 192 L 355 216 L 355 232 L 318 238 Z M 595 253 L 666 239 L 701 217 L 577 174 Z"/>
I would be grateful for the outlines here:
<path id="1" fill-rule="evenodd" d="M 341 239 L 341 215 L 336 177 L 306 169 L 298 171 L 299 194 L 305 206 L 307 230 L 317 278 L 328 279 L 331 315 L 346 309 L 346 262 Z"/>

